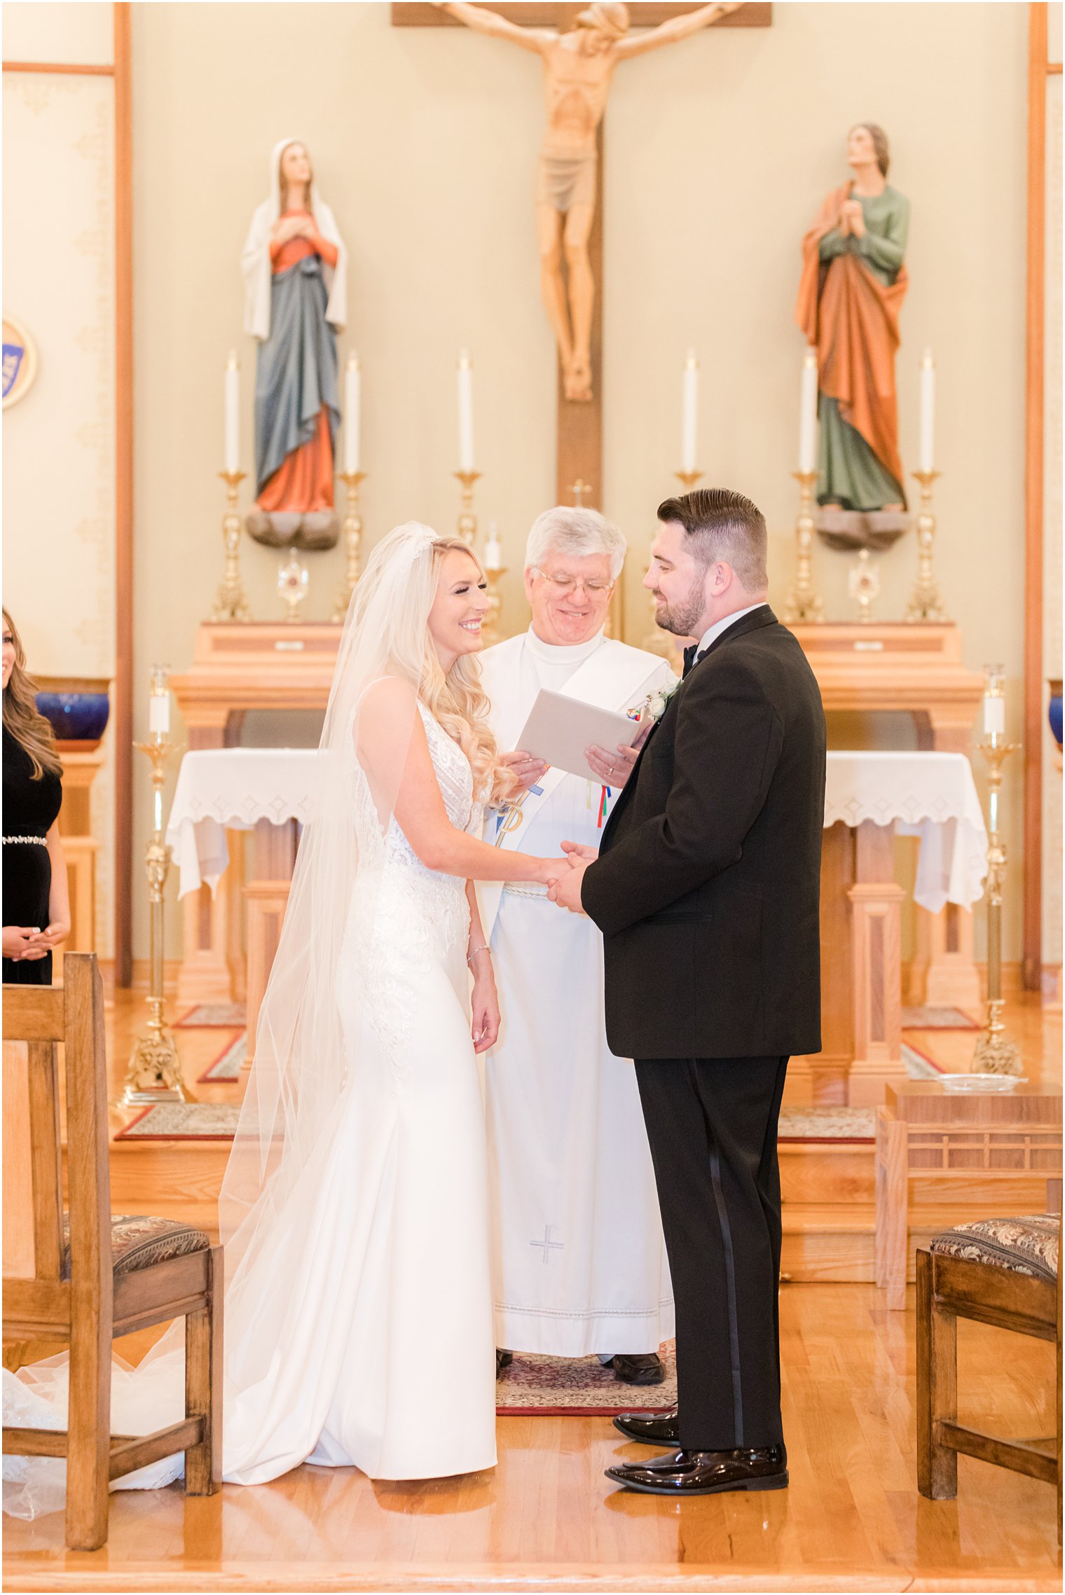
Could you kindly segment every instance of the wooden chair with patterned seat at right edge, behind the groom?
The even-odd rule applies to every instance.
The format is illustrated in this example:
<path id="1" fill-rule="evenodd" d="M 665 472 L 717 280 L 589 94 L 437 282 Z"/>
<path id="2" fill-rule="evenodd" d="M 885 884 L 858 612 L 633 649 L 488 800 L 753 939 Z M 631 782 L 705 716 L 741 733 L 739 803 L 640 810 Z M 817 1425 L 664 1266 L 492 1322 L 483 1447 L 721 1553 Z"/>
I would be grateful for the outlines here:
<path id="1" fill-rule="evenodd" d="M 917 1487 L 933 1501 L 958 1493 L 958 1451 L 1057 1483 L 1062 1534 L 1060 1217 L 960 1223 L 917 1249 Z M 1057 1343 L 1057 1436 L 1001 1440 L 958 1423 L 958 1319 Z"/>

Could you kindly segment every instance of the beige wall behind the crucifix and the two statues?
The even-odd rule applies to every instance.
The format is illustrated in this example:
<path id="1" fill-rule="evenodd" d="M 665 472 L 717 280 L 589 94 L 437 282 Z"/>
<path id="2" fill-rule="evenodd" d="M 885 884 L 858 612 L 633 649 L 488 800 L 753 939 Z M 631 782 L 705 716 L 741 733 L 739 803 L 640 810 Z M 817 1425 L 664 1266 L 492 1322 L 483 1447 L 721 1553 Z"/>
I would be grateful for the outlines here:
<path id="1" fill-rule="evenodd" d="M 37 8 L 40 10 L 40 8 Z M 1006 664 L 1020 724 L 1024 545 L 1025 21 L 1019 3 L 778 3 L 764 30 L 719 30 L 619 70 L 606 123 L 604 509 L 633 541 L 628 636 L 654 506 L 671 491 L 684 349 L 701 359 L 700 463 L 751 493 L 772 528 L 775 601 L 791 576 L 802 340 L 791 321 L 799 239 L 847 172 L 843 134 L 874 118 L 914 207 L 898 364 L 914 463 L 917 367 L 939 367 L 937 561 L 968 662 Z M 364 365 L 367 541 L 411 515 L 456 514 L 454 357 L 477 381 L 481 522 L 525 622 L 525 530 L 552 496 L 553 351 L 539 305 L 531 188 L 542 126 L 536 57 L 459 30 L 392 29 L 386 5 L 134 5 L 136 671 L 183 668 L 222 569 L 222 368 L 244 364 L 250 464 L 253 348 L 239 252 L 268 153 L 308 142 L 351 255 Z M 6 421 L 5 421 L 6 431 Z M 246 483 L 246 490 L 249 483 Z M 250 493 L 246 491 L 246 506 Z M 257 616 L 279 614 L 277 557 L 247 547 Z M 843 617 L 847 558 L 818 550 Z M 327 616 L 340 550 L 312 558 Z M 907 539 L 880 561 L 898 616 Z M 979 758 L 974 761 L 982 777 Z M 1020 761 L 1004 812 L 1019 957 Z M 147 780 L 137 772 L 137 855 Z M 136 893 L 137 954 L 147 922 Z M 172 916 L 172 930 L 177 917 Z M 171 941 L 177 949 L 177 941 Z"/>

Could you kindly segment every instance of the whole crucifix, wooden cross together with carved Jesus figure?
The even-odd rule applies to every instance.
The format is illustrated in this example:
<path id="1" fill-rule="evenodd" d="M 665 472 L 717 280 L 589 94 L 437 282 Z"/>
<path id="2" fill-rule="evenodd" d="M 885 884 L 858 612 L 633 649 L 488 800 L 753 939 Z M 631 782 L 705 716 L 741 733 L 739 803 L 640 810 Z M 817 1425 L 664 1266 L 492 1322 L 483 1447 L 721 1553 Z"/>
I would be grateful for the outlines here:
<path id="1" fill-rule="evenodd" d="M 547 132 L 536 209 L 540 290 L 558 348 L 558 504 L 574 494 L 593 506 L 603 499 L 603 112 L 614 70 L 703 27 L 770 21 L 772 5 L 754 3 L 392 5 L 394 27 L 466 26 L 544 62 Z"/>

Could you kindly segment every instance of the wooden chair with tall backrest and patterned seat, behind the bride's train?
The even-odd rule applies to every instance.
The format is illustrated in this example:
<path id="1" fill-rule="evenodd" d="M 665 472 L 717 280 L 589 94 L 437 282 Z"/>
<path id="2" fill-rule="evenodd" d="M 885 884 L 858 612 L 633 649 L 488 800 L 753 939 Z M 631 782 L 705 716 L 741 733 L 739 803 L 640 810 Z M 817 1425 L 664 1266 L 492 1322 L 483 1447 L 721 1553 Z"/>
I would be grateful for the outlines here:
<path id="1" fill-rule="evenodd" d="M 218 1490 L 222 1247 L 171 1219 L 112 1219 L 104 986 L 94 954 L 67 954 L 62 986 L 5 986 L 3 1040 L 29 1043 L 26 1050 L 5 1045 L 5 1198 L 8 1172 L 19 1172 L 18 1126 L 29 1142 L 21 1161 L 32 1206 L 32 1225 L 22 1223 L 19 1244 L 5 1246 L 3 1338 L 70 1345 L 67 1431 L 5 1428 L 3 1450 L 67 1458 L 67 1546 L 96 1550 L 107 1539 L 112 1479 L 185 1451 L 187 1493 Z M 69 1214 L 62 1206 L 59 1042 L 65 1050 Z M 11 1228 L 5 1230 L 11 1241 Z M 112 1340 L 172 1317 L 185 1317 L 185 1418 L 153 1434 L 112 1436 Z"/>

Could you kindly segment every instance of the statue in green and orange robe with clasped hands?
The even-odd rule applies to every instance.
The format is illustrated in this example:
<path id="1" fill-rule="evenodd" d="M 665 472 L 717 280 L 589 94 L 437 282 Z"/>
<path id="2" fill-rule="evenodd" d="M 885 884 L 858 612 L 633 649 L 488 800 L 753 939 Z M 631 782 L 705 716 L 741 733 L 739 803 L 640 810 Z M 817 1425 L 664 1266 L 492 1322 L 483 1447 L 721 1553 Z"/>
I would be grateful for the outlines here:
<path id="1" fill-rule="evenodd" d="M 802 241 L 796 303 L 796 321 L 818 354 L 818 504 L 872 514 L 870 528 L 882 523 L 898 536 L 906 490 L 894 352 L 910 206 L 886 182 L 882 128 L 851 128 L 847 158 L 853 179 L 827 196 Z"/>

